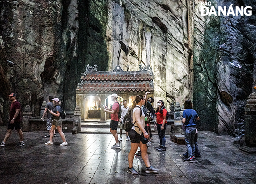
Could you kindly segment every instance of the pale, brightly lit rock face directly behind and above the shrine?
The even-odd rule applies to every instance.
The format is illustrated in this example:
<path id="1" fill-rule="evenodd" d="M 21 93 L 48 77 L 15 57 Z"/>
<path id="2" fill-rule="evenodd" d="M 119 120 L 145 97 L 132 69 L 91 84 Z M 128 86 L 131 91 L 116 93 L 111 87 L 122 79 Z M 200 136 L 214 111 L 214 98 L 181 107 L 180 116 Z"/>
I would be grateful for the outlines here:
<path id="1" fill-rule="evenodd" d="M 109 1 L 108 9 L 109 70 L 150 66 L 155 106 L 162 99 L 169 109 L 170 102 L 192 97 L 187 1 Z"/>

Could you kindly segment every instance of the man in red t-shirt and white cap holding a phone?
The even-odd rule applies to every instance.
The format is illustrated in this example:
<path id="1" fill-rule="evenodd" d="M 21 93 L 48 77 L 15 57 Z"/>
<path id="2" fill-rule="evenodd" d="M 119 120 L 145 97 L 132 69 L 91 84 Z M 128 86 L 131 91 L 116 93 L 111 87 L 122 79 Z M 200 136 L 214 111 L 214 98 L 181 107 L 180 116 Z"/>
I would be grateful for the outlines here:
<path id="1" fill-rule="evenodd" d="M 119 122 L 119 118 L 118 118 L 118 112 L 119 112 L 119 103 L 118 101 L 116 101 L 116 99 L 118 98 L 117 94 L 112 94 L 111 95 L 111 101 L 114 102 L 112 109 L 107 108 L 107 106 L 105 106 L 104 111 L 110 113 L 111 115 L 111 121 L 110 121 L 110 132 L 112 133 L 112 135 L 114 136 L 115 140 L 116 140 L 116 144 L 114 144 L 111 148 L 120 148 L 119 146 L 119 142 L 118 141 L 118 134 L 117 134 L 117 128 L 118 128 L 118 122 Z"/>

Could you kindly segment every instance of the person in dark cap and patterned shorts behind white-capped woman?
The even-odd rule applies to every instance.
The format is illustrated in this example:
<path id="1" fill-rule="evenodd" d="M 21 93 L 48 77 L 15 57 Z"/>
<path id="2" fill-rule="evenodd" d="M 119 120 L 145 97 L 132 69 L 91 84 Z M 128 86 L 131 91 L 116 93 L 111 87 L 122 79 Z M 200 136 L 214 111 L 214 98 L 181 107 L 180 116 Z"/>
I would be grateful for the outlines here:
<path id="1" fill-rule="evenodd" d="M 49 96 L 48 98 L 48 103 L 46 104 L 45 106 L 45 111 L 43 112 L 43 118 L 47 118 L 47 121 L 46 121 L 46 129 L 49 131 L 49 134 L 48 135 L 45 135 L 45 137 L 50 137 L 50 132 L 51 132 L 51 128 L 52 128 L 52 114 L 50 113 L 50 111 L 53 111 L 54 109 L 54 104 L 52 102 L 52 99 L 54 97 L 53 96 Z M 56 134 L 55 134 L 55 129 L 54 129 L 54 137 L 56 137 Z"/>

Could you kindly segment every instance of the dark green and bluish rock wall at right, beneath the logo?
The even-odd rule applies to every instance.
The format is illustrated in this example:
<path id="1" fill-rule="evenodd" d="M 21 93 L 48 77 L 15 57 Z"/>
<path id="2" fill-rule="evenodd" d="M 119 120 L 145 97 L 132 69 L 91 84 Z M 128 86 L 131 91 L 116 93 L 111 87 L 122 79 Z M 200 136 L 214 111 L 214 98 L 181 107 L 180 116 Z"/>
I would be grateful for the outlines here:
<path id="1" fill-rule="evenodd" d="M 211 3 L 216 10 L 230 5 L 234 10 L 235 6 L 255 10 L 255 1 Z M 195 9 L 200 9 L 200 2 Z M 199 24 L 195 29 L 194 105 L 201 114 L 199 128 L 240 136 L 244 134 L 244 107 L 255 84 L 255 14 L 202 18 L 196 11 L 195 17 Z"/>

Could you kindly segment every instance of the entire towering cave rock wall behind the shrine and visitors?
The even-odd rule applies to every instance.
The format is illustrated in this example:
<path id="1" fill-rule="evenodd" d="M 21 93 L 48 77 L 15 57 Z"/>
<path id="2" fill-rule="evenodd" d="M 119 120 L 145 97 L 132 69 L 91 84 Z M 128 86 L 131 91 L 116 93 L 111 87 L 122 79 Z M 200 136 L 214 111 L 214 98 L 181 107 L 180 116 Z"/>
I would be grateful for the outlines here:
<path id="1" fill-rule="evenodd" d="M 255 0 L 211 3 L 255 9 Z M 191 98 L 199 129 L 243 134 L 256 78 L 255 15 L 201 16 L 200 9 L 201 0 L 1 1 L 0 124 L 11 92 L 33 114 L 50 94 L 73 110 L 87 64 L 125 71 L 142 65 L 154 72 L 155 103 L 163 99 L 169 109 Z"/>

